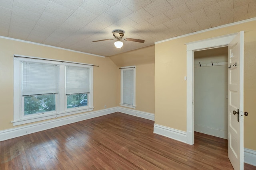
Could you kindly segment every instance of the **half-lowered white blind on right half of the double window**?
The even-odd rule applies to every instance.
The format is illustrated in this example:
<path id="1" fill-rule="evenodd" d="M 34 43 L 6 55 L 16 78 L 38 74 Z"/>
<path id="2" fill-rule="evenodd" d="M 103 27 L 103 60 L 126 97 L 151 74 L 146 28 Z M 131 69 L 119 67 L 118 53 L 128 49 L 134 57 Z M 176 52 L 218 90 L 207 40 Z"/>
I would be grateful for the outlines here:
<path id="1" fill-rule="evenodd" d="M 90 92 L 90 69 L 66 66 L 66 95 Z"/>

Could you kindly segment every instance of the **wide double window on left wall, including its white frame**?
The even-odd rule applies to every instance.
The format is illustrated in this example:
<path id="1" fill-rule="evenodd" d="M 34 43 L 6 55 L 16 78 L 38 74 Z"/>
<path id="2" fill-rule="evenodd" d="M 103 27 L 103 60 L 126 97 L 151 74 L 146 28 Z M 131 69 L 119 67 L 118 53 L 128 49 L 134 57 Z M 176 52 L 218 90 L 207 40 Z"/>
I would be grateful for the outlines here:
<path id="1" fill-rule="evenodd" d="M 14 58 L 14 125 L 93 109 L 93 67 Z"/>

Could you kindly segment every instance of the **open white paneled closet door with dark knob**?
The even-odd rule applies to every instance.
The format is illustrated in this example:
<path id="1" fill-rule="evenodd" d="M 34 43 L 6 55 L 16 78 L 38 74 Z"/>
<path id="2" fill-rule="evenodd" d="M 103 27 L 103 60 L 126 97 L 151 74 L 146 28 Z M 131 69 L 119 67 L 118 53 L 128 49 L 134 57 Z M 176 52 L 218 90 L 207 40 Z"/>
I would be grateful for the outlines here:
<path id="1" fill-rule="evenodd" d="M 244 169 L 244 31 L 228 45 L 228 158 Z"/>

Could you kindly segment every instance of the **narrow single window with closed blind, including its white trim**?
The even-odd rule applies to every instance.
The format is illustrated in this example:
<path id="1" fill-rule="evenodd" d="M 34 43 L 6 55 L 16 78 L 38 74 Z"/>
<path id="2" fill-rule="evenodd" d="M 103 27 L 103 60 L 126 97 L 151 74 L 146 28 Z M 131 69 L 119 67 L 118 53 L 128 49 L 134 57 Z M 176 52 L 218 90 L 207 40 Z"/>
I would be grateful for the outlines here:
<path id="1" fill-rule="evenodd" d="M 121 67 L 121 106 L 135 109 L 136 66 Z"/>

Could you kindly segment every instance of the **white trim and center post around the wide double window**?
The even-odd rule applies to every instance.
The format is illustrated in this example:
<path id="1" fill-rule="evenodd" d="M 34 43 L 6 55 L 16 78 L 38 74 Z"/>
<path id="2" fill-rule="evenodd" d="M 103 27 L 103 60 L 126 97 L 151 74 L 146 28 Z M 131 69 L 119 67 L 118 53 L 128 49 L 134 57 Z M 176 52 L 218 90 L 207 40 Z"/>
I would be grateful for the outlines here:
<path id="1" fill-rule="evenodd" d="M 21 55 L 19 55 L 21 56 Z M 22 58 L 26 57 L 26 58 Z M 45 61 L 40 60 L 43 58 L 21 56 L 14 57 L 14 119 L 11 121 L 14 126 L 22 125 L 25 123 L 32 123 L 36 121 L 42 121 L 46 119 L 53 119 L 66 115 L 72 115 L 76 113 L 84 113 L 86 111 L 92 111 L 93 106 L 93 66 L 92 64 L 84 65 L 84 63 L 70 63 L 58 60 Z M 35 114 L 31 116 L 22 117 L 22 94 L 21 94 L 21 72 L 22 62 L 35 62 L 35 63 L 47 63 L 59 65 L 59 94 L 56 99 L 56 111 L 46 114 Z M 90 68 L 90 93 L 88 94 L 88 106 L 87 107 L 74 107 L 66 108 L 66 94 L 65 94 L 65 66 L 82 66 Z"/>

